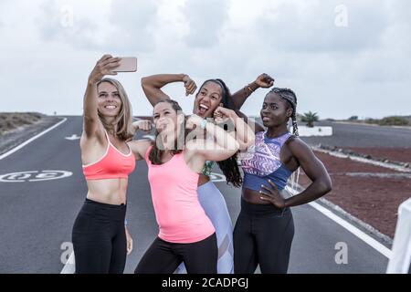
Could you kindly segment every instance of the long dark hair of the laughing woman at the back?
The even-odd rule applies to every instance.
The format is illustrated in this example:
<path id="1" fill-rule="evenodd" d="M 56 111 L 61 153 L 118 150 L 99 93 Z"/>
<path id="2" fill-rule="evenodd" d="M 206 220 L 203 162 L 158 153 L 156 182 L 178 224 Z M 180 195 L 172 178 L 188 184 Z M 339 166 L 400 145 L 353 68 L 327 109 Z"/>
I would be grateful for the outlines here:
<path id="1" fill-rule="evenodd" d="M 227 88 L 226 83 L 222 79 L 219 79 L 219 78 L 208 79 L 208 80 L 205 80 L 205 82 L 201 85 L 198 92 L 201 91 L 201 89 L 207 82 L 216 83 L 221 88 L 221 92 L 222 92 L 221 103 L 223 103 L 224 108 L 231 109 L 232 108 L 231 93 L 230 93 L 230 90 Z M 227 129 L 225 128 L 225 130 Z M 237 164 L 237 153 L 225 161 L 217 162 L 217 164 L 220 170 L 226 176 L 227 184 L 231 183 L 235 187 L 241 186 L 241 184 L 243 183 L 243 179 L 241 178 L 241 173 L 239 171 L 238 164 Z"/>

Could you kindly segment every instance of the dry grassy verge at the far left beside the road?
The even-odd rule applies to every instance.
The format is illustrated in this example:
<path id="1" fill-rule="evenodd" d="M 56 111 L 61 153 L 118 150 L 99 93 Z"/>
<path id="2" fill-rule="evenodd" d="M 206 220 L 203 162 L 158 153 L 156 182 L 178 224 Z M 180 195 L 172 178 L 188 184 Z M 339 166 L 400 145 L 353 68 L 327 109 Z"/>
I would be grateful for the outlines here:
<path id="1" fill-rule="evenodd" d="M 38 112 L 0 112 L 0 135 L 6 131 L 31 125 L 44 118 Z"/>

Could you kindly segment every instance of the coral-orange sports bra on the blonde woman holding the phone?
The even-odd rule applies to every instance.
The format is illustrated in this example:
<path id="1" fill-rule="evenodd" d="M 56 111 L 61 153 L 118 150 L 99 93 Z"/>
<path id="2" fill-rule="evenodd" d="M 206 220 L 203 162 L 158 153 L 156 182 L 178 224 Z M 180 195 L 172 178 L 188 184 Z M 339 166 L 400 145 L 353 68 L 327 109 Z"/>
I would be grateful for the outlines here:
<path id="1" fill-rule="evenodd" d="M 83 173 L 86 180 L 104 179 L 127 179 L 135 168 L 135 157 L 129 147 L 130 152 L 123 154 L 111 144 L 109 134 L 104 130 L 107 137 L 107 150 L 97 162 L 83 165 Z"/>

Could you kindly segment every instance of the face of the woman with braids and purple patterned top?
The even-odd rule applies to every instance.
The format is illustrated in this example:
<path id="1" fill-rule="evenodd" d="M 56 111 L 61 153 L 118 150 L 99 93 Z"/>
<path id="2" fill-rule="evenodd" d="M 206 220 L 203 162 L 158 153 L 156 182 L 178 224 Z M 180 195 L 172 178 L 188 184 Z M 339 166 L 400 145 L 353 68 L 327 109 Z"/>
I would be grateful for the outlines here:
<path id="1" fill-rule="evenodd" d="M 276 93 L 269 93 L 264 99 L 260 111 L 261 119 L 265 127 L 278 127 L 287 123 L 292 115 L 290 104 Z"/>

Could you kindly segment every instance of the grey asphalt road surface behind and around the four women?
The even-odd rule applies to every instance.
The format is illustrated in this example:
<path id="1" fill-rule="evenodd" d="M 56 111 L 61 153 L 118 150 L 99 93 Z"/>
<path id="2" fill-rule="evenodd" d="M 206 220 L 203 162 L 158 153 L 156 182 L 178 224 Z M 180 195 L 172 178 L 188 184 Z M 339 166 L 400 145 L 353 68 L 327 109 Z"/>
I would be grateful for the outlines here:
<path id="1" fill-rule="evenodd" d="M 59 273 L 64 266 L 60 257 L 67 250 L 61 245 L 71 240 L 71 228 L 87 192 L 79 140 L 73 136 L 81 132 L 81 118 L 67 118 L 58 128 L 0 160 L 0 273 Z M 6 175 L 13 172 L 27 173 Z M 127 218 L 134 250 L 126 273 L 133 271 L 157 235 L 146 173 L 145 162 L 137 162 L 130 177 Z M 216 185 L 235 222 L 239 190 L 226 183 Z M 296 232 L 290 273 L 385 273 L 385 255 L 341 225 L 310 205 L 292 212 Z M 337 243 L 348 248 L 346 264 L 335 261 Z"/>

